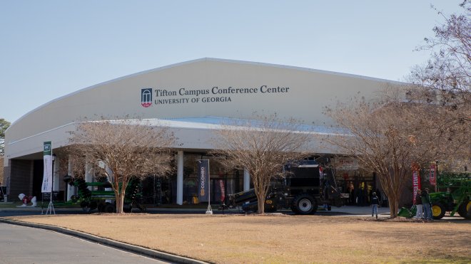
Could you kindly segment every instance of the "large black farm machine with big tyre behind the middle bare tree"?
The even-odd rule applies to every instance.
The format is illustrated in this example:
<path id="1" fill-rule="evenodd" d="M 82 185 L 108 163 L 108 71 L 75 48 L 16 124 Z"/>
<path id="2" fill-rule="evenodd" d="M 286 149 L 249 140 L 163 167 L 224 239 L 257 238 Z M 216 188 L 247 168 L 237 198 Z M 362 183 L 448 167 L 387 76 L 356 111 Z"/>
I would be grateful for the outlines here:
<path id="1" fill-rule="evenodd" d="M 273 183 L 265 199 L 265 211 L 290 208 L 296 214 L 315 213 L 319 205 L 342 206 L 335 178 L 330 169 L 320 172 L 315 161 L 299 161 L 285 166 L 282 182 Z M 243 211 L 258 211 L 254 189 L 229 195 L 228 207 L 240 206 Z"/>

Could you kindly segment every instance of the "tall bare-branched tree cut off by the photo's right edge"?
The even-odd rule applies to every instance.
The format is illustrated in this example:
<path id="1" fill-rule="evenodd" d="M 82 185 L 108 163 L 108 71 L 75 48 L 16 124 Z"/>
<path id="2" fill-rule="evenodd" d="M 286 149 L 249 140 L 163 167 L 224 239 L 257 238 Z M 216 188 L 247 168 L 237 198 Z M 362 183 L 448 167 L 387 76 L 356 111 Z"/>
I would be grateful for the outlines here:
<path id="1" fill-rule="evenodd" d="M 430 60 L 412 68 L 407 80 L 415 86 L 407 97 L 420 102 L 422 112 L 430 115 L 427 127 L 447 141 L 442 149 L 447 157 L 466 164 L 471 156 L 471 3 L 463 1 L 460 6 L 462 14 L 437 11 L 444 23 L 417 48 L 430 51 Z"/>

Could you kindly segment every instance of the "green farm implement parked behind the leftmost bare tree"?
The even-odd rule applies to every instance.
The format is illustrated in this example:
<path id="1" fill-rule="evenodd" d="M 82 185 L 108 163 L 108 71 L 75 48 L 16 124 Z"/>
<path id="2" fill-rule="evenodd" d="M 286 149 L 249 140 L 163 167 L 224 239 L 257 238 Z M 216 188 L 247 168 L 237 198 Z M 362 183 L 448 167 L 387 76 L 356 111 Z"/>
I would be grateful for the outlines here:
<path id="1" fill-rule="evenodd" d="M 83 211 L 90 212 L 98 208 L 98 212 L 101 213 L 116 212 L 116 196 L 108 181 L 86 182 L 83 179 L 74 179 L 73 184 L 77 187 L 78 195 L 73 196 L 72 200 L 80 203 Z M 91 186 L 91 190 L 88 189 L 88 186 Z M 123 211 L 129 213 L 133 206 L 141 211 L 146 211 L 146 208 L 138 202 L 139 196 L 139 182 L 131 180 L 126 188 Z"/>

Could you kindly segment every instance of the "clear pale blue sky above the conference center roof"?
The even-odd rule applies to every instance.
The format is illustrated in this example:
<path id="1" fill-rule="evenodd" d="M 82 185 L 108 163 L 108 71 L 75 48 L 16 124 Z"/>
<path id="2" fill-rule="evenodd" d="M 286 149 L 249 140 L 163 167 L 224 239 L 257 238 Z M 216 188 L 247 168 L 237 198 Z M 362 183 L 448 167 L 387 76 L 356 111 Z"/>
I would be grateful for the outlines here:
<path id="1" fill-rule="evenodd" d="M 404 80 L 461 1 L 0 1 L 0 118 L 123 75 L 212 57 Z"/>

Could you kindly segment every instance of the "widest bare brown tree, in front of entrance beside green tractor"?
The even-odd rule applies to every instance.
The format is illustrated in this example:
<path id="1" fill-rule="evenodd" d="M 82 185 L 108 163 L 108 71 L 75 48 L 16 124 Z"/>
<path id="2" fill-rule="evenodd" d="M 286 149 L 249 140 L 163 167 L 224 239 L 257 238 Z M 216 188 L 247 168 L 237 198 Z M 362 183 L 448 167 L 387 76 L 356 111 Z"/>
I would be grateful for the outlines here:
<path id="1" fill-rule="evenodd" d="M 325 114 L 345 129 L 324 137 L 337 151 L 358 158 L 360 167 L 373 171 L 388 196 L 391 217 L 397 216 L 400 190 L 412 163 L 426 164 L 440 153 L 435 134 L 423 121 L 423 105 L 400 100 L 403 90 L 388 89 L 378 100 L 363 98 L 326 108 Z"/>

